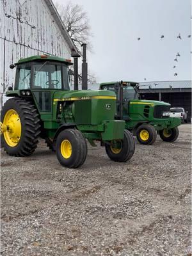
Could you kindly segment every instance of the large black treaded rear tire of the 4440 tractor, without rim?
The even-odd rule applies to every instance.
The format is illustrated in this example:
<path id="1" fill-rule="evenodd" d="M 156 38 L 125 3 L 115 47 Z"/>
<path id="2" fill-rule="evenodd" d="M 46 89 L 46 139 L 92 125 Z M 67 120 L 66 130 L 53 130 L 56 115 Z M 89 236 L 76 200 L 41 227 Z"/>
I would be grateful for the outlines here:
<path id="1" fill-rule="evenodd" d="M 1 122 L 8 111 L 13 109 L 17 112 L 20 118 L 21 134 L 17 145 L 10 147 L 4 139 L 4 134 L 1 135 L 4 150 L 10 156 L 30 156 L 38 143 L 40 134 L 40 118 L 36 107 L 33 103 L 20 98 L 12 98 L 5 102 L 1 111 Z"/>

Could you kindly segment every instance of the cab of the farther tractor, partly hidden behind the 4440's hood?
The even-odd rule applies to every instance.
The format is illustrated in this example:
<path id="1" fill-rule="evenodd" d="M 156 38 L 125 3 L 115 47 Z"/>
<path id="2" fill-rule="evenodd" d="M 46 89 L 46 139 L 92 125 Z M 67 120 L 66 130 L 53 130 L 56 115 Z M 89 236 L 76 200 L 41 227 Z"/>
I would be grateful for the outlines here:
<path id="1" fill-rule="evenodd" d="M 100 90 L 110 90 L 116 93 L 116 117 L 124 120 L 129 118 L 129 101 L 138 99 L 138 87 L 138 83 L 129 81 L 100 84 Z"/>

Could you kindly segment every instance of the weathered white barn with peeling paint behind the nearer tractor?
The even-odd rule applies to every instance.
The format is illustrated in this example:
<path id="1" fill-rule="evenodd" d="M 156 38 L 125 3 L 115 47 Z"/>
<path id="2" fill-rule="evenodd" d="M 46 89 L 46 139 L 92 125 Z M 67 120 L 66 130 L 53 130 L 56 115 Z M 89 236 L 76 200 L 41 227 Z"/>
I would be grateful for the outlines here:
<path id="1" fill-rule="evenodd" d="M 2 106 L 4 92 L 15 80 L 10 64 L 43 53 L 70 59 L 76 47 L 51 0 L 1 0 L 0 4 Z"/>

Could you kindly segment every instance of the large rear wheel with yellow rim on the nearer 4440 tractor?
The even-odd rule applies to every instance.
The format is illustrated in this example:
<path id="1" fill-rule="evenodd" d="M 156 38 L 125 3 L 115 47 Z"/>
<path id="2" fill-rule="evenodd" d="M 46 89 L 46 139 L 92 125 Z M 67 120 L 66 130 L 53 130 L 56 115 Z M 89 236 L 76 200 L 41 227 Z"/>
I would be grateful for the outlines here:
<path id="1" fill-rule="evenodd" d="M 35 106 L 24 99 L 9 99 L 2 108 L 1 122 L 4 150 L 10 156 L 30 156 L 40 134 L 40 118 Z"/>

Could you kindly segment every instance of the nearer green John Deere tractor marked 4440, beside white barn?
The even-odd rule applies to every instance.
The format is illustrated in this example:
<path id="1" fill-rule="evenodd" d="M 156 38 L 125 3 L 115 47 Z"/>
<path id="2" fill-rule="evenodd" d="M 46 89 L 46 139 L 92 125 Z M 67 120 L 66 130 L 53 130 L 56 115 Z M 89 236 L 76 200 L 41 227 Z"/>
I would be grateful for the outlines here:
<path id="1" fill-rule="evenodd" d="M 43 138 L 58 161 L 68 168 L 81 166 L 86 139 L 106 148 L 113 161 L 134 154 L 134 139 L 123 120 L 114 120 L 114 92 L 69 90 L 70 60 L 41 55 L 18 61 L 14 88 L 1 111 L 1 143 L 10 156 L 29 156 Z"/>

